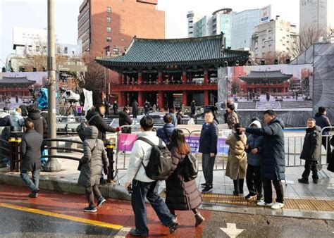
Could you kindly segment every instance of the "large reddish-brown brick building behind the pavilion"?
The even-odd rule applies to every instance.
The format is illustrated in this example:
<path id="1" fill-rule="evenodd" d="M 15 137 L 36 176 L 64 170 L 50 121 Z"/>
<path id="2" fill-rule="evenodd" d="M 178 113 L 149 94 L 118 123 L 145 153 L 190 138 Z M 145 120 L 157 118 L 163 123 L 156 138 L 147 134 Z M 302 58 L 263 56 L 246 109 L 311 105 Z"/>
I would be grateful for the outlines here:
<path id="1" fill-rule="evenodd" d="M 165 12 L 158 0 L 84 0 L 78 16 L 82 52 L 121 54 L 132 37 L 165 38 Z"/>

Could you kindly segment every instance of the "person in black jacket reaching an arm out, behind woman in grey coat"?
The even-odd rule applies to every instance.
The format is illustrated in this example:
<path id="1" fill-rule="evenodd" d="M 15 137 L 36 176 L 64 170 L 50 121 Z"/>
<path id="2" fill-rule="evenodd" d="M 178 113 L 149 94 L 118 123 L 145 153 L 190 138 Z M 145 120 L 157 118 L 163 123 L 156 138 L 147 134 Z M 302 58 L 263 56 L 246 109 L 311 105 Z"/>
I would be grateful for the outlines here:
<path id="1" fill-rule="evenodd" d="M 99 130 L 97 139 L 101 139 L 104 144 L 106 144 L 106 132 L 118 132 L 120 131 L 120 128 L 114 128 L 107 125 L 103 120 L 104 113 L 106 113 L 106 108 L 103 104 L 99 104 L 97 107 L 92 108 L 87 112 L 86 120 L 90 120 L 92 118 L 92 120 L 89 121 L 89 125 L 97 127 L 97 130 Z"/>

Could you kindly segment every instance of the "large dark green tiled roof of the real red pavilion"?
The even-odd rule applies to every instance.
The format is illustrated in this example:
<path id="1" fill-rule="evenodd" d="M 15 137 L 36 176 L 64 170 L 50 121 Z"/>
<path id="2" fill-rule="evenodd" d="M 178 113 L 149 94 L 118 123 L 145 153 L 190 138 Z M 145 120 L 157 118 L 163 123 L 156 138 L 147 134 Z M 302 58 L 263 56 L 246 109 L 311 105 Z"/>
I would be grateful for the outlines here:
<path id="1" fill-rule="evenodd" d="M 185 39 L 139 39 L 134 37 L 122 56 L 97 58 L 97 63 L 112 65 L 167 65 L 194 62 L 211 63 L 245 60 L 248 51 L 222 51 L 221 35 Z"/>

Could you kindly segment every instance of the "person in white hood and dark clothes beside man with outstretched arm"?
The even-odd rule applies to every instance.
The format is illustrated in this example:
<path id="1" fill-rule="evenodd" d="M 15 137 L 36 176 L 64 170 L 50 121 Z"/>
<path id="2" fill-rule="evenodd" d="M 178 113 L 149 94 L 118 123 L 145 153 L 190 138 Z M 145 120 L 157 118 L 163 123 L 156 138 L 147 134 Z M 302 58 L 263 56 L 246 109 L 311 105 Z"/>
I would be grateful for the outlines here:
<path id="1" fill-rule="evenodd" d="M 259 120 L 254 120 L 249 127 L 261 128 Z M 260 173 L 260 153 L 262 151 L 264 137 L 257 134 L 249 134 L 247 137 L 247 172 L 246 184 L 249 194 L 245 196 L 246 200 L 256 197 L 256 202 L 262 201 L 262 181 Z"/>

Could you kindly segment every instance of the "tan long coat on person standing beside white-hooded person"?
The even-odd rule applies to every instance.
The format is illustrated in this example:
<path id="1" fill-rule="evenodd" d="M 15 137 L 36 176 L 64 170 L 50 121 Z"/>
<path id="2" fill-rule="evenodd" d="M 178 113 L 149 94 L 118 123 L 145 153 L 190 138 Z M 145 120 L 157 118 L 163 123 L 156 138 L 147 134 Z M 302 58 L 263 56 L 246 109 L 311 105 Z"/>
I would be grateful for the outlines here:
<path id="1" fill-rule="evenodd" d="M 228 150 L 228 163 L 225 175 L 230 177 L 231 180 L 245 178 L 247 170 L 247 154 L 245 152 L 247 144 L 246 135 L 231 134 L 226 139 L 226 144 L 230 146 L 230 149 Z"/>

